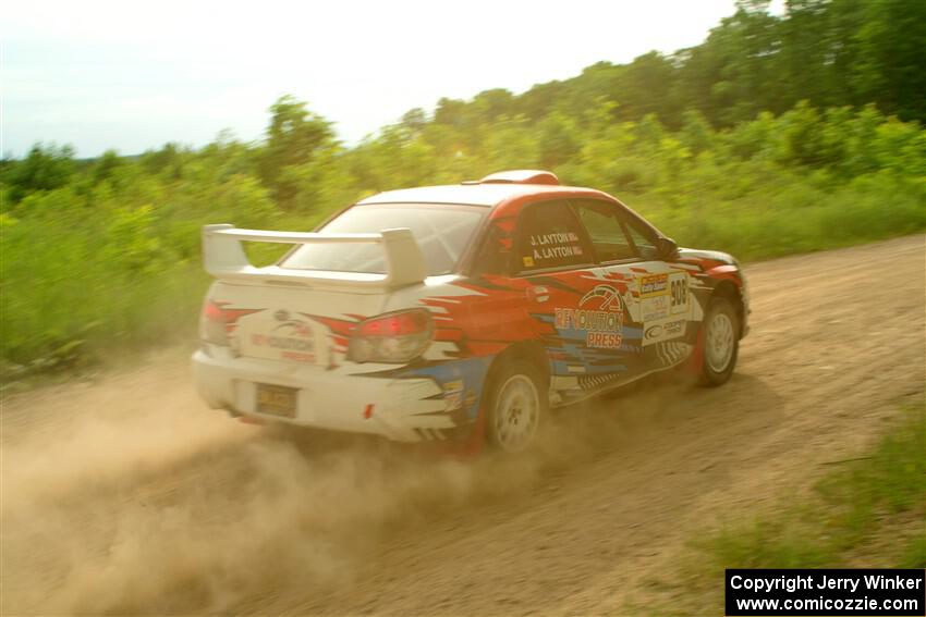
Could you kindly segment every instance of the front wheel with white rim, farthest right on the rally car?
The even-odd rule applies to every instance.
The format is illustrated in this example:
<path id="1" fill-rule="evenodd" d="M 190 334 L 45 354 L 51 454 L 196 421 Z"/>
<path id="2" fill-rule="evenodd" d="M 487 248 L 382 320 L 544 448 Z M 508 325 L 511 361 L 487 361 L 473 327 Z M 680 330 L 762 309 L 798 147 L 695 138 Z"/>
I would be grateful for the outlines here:
<path id="1" fill-rule="evenodd" d="M 740 318 L 728 298 L 712 298 L 702 325 L 698 383 L 716 387 L 727 383 L 740 354 Z"/>

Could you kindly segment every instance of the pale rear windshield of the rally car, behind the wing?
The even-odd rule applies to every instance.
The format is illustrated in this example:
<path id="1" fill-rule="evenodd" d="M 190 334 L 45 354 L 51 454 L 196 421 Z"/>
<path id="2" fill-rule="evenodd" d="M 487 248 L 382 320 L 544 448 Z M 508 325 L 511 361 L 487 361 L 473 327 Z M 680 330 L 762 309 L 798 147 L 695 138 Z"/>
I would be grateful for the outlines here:
<path id="1" fill-rule="evenodd" d="M 407 227 L 422 247 L 428 275 L 453 272 L 488 208 L 449 205 L 371 203 L 354 206 L 319 230 L 331 234 L 378 233 Z M 297 270 L 386 273 L 377 244 L 306 244 L 281 264 Z"/>

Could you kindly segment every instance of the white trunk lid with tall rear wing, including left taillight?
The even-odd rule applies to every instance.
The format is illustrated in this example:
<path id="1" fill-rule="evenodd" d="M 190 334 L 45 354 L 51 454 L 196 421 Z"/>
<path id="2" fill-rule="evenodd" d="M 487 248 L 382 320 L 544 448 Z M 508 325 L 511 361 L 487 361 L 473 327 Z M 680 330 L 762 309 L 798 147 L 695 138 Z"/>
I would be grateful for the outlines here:
<path id="1" fill-rule="evenodd" d="M 355 244 L 367 255 L 371 245 L 379 249 L 373 251 L 379 264 L 368 269 L 380 271 L 256 268 L 242 242 Z M 332 366 L 340 361 L 339 354 L 346 354 L 357 323 L 381 313 L 392 291 L 427 276 L 422 251 L 407 229 L 319 234 L 208 225 L 203 247 L 206 270 L 217 279 L 203 313 L 204 338 L 249 358 Z"/>

